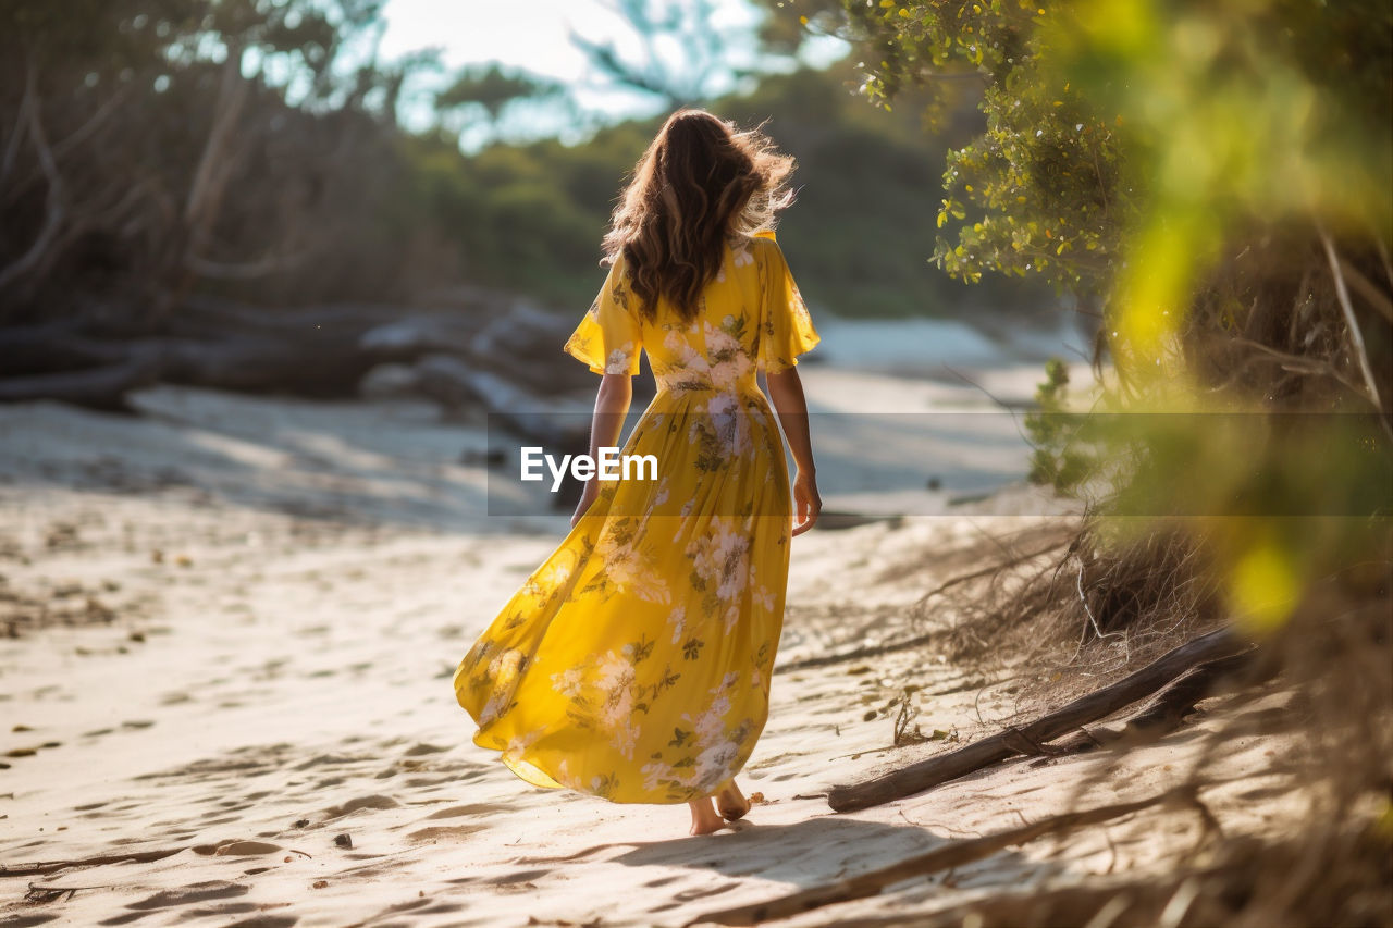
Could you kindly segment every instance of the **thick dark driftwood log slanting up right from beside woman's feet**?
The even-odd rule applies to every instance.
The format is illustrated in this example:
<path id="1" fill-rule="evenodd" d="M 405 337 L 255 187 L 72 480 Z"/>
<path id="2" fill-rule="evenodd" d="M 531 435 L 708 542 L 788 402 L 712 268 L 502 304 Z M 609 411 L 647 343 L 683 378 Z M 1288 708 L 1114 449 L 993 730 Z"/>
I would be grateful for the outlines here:
<path id="1" fill-rule="evenodd" d="M 1169 651 L 1117 683 L 1080 697 L 1029 725 L 1009 727 L 956 751 L 862 783 L 834 786 L 827 796 L 827 804 L 837 812 L 880 805 L 956 780 L 1010 757 L 1048 754 L 1049 750 L 1045 747 L 1048 741 L 1127 708 L 1198 663 L 1229 658 L 1245 647 L 1245 642 L 1227 627 L 1211 631 Z"/>

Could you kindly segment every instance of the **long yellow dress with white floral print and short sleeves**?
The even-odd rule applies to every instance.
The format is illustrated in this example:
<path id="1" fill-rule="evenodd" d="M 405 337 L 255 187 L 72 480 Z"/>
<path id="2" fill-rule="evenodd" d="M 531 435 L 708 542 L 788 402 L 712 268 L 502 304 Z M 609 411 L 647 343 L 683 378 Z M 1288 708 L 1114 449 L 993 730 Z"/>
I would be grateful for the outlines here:
<path id="1" fill-rule="evenodd" d="M 624 262 L 566 343 L 596 373 L 657 394 L 624 454 L 657 479 L 599 497 L 460 663 L 454 690 L 528 783 L 616 803 L 710 796 L 769 712 L 791 506 L 783 439 L 756 369 L 818 343 L 772 234 L 731 241 L 690 325 L 641 318 Z"/>

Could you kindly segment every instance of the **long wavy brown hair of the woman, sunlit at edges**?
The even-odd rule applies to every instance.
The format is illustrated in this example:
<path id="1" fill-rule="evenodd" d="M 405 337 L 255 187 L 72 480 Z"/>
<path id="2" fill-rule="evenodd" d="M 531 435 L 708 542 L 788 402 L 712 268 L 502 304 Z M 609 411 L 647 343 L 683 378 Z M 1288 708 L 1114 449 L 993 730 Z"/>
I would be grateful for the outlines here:
<path id="1" fill-rule="evenodd" d="M 605 235 L 605 261 L 620 255 L 639 312 L 657 318 L 666 297 L 683 322 L 720 270 L 729 237 L 773 230 L 793 202 L 794 159 L 759 128 L 737 130 L 705 110 L 667 117 L 634 169 Z"/>

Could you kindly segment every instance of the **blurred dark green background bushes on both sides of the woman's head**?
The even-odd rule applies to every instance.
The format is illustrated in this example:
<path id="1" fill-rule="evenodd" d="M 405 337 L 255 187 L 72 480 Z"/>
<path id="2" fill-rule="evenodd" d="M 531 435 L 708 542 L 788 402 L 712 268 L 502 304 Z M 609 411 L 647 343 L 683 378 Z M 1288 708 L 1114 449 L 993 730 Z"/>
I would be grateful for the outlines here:
<path id="1" fill-rule="evenodd" d="M 848 64 L 766 77 L 709 107 L 744 125 L 766 123 L 798 159 L 798 202 L 779 230 L 805 294 L 841 315 L 1027 312 L 1031 287 L 997 280 L 968 291 L 929 266 L 924 217 L 932 159 L 943 150 L 912 116 L 868 110 Z M 451 164 L 446 139 L 412 145 L 430 173 L 423 208 L 460 241 L 471 277 L 550 302 L 582 304 L 599 283 L 599 238 L 616 195 L 660 120 L 635 120 L 566 146 L 496 144 Z M 507 230 L 503 234 L 500 230 Z"/>

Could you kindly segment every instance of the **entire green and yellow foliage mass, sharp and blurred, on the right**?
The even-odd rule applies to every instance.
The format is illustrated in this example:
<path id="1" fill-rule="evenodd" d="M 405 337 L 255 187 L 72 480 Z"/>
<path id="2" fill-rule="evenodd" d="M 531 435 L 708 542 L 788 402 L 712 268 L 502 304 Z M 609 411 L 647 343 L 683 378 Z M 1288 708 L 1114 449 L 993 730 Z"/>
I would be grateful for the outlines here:
<path id="1" fill-rule="evenodd" d="M 1100 307 L 1105 415 L 1061 414 L 1048 372 L 1035 479 L 1198 517 L 1255 630 L 1389 549 L 1393 7 L 847 0 L 846 22 L 873 103 L 986 88 L 986 131 L 949 155 L 935 259 Z"/>

